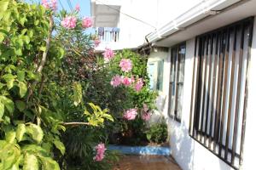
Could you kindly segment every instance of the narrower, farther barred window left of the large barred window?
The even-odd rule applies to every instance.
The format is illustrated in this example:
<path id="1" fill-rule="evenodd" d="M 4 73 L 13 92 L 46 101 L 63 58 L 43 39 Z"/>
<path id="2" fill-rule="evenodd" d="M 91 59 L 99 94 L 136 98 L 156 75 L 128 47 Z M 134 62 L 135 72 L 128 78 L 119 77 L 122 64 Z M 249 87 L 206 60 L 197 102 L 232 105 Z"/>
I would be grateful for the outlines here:
<path id="1" fill-rule="evenodd" d="M 168 114 L 177 122 L 181 121 L 182 114 L 185 51 L 184 43 L 173 47 L 171 51 Z"/>

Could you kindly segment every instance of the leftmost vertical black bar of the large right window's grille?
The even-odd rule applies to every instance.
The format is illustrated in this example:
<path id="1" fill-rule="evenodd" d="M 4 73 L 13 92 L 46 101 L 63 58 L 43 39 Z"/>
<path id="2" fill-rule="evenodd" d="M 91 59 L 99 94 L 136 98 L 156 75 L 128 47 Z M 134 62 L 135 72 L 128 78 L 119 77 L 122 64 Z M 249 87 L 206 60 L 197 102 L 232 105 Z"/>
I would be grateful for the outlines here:
<path id="1" fill-rule="evenodd" d="M 197 78 L 195 79 L 195 63 L 196 63 L 196 59 L 197 59 L 197 56 L 196 56 L 196 51 L 197 51 L 197 38 L 195 38 L 195 53 L 194 53 L 194 65 L 193 65 L 193 80 L 192 80 L 192 88 L 191 88 L 191 91 L 192 91 L 192 94 L 191 94 L 191 100 L 190 100 L 190 117 L 189 117 L 189 134 L 191 135 L 192 132 L 191 132 L 191 129 L 192 131 L 194 131 L 194 124 L 192 125 L 192 116 L 193 116 L 193 101 L 194 101 L 194 95 L 195 95 L 195 92 L 194 92 L 194 88 L 195 88 L 195 82 L 197 82 Z M 198 65 L 198 63 L 197 63 Z M 195 113 L 194 113 L 195 115 Z"/>

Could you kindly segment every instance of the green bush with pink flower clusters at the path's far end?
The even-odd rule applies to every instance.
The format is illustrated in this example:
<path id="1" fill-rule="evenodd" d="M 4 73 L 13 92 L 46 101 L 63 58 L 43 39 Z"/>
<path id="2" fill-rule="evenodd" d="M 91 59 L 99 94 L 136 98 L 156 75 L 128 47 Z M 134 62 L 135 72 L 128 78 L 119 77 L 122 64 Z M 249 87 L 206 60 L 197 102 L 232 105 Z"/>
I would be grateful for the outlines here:
<path id="1" fill-rule="evenodd" d="M 147 141 L 146 124 L 154 109 L 156 97 L 148 89 L 147 58 L 131 50 L 123 50 L 115 52 L 106 63 L 104 54 L 99 64 L 102 67 L 94 77 L 99 86 L 94 88 L 97 91 L 95 96 L 102 96 L 97 103 L 108 105 L 117 120 L 106 125 L 106 133 L 114 144 L 141 144 Z M 143 105 L 147 105 L 147 111 L 143 110 Z"/>

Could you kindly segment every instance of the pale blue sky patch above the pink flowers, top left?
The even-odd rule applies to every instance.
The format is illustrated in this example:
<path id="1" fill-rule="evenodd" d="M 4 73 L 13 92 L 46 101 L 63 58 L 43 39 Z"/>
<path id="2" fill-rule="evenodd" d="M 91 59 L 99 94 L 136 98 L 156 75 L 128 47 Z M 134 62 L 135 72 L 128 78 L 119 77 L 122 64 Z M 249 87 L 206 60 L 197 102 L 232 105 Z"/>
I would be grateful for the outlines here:
<path id="1" fill-rule="evenodd" d="M 41 0 L 25 0 L 26 2 L 36 2 L 41 3 Z M 49 0 L 50 1 L 50 0 Z M 61 10 L 61 4 L 63 8 L 70 11 L 67 1 L 70 1 L 72 7 L 75 8 L 76 4 L 80 5 L 80 15 L 81 16 L 90 16 L 90 0 L 57 0 L 58 1 L 58 10 Z"/>

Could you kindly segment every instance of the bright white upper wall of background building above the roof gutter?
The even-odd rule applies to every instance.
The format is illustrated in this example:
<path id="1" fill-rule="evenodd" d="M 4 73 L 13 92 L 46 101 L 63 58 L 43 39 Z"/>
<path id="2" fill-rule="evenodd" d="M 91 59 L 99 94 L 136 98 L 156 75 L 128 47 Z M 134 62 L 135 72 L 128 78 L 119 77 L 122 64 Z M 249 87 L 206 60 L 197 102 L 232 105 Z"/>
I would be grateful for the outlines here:
<path id="1" fill-rule="evenodd" d="M 143 45 L 147 34 L 158 30 L 160 26 L 164 26 L 201 2 L 203 1 L 122 0 L 119 14 L 119 48 L 137 48 Z"/>

